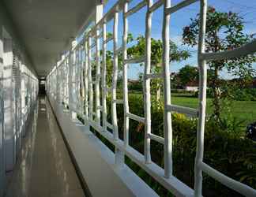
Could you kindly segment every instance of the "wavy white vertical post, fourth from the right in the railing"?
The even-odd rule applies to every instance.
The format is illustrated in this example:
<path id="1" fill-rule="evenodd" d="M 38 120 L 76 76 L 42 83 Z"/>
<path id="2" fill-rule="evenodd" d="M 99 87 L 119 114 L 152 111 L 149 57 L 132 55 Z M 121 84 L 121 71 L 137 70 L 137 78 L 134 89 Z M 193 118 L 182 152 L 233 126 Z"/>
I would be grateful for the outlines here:
<path id="1" fill-rule="evenodd" d="M 122 92 L 123 92 L 123 111 L 124 111 L 124 125 L 123 125 L 123 135 L 124 135 L 124 145 L 129 146 L 129 101 L 128 101 L 128 79 L 127 79 L 127 67 L 128 64 L 125 62 L 127 58 L 127 35 L 128 35 L 128 19 L 125 13 L 128 11 L 128 2 L 124 3 L 122 20 L 123 20 L 123 35 L 122 35 Z"/>

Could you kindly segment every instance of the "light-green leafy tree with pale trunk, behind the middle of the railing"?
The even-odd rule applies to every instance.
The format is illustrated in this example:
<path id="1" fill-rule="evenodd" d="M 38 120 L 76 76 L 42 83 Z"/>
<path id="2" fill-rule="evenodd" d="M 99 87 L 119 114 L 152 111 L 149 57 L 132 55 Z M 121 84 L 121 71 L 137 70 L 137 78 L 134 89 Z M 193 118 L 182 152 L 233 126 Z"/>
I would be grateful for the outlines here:
<path id="1" fill-rule="evenodd" d="M 134 46 L 127 49 L 127 54 L 129 58 L 141 57 L 145 55 L 145 37 L 139 35 L 136 39 L 137 42 Z M 180 50 L 178 46 L 175 45 L 171 40 L 170 44 L 170 62 L 171 61 L 182 61 L 190 57 L 190 53 L 187 50 Z M 162 52 L 163 43 L 160 39 L 151 39 L 151 65 L 152 73 L 162 72 Z M 152 83 L 153 89 L 156 90 L 156 100 L 160 99 L 161 90 L 161 79 L 154 80 Z"/>

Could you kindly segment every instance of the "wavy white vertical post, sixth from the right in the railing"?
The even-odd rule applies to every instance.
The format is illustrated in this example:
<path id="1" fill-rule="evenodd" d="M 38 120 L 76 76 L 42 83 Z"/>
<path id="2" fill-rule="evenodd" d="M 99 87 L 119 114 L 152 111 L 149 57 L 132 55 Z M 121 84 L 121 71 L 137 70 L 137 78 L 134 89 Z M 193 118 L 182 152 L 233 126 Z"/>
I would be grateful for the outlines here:
<path id="1" fill-rule="evenodd" d="M 106 29 L 106 23 L 103 24 L 103 43 L 102 43 L 102 83 L 101 83 L 101 89 L 102 89 L 102 113 L 103 113 L 103 128 L 104 131 L 107 131 L 107 84 L 106 84 L 106 50 L 107 50 L 107 29 Z"/>

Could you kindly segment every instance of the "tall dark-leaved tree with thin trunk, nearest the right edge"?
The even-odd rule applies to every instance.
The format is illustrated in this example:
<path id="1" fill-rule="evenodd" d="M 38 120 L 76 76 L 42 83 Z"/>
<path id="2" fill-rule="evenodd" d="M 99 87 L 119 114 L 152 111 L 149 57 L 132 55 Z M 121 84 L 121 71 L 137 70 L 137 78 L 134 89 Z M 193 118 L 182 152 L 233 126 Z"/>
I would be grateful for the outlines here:
<path id="1" fill-rule="evenodd" d="M 198 14 L 197 17 L 191 19 L 188 26 L 183 28 L 184 44 L 198 45 L 199 21 Z M 243 33 L 243 28 L 243 18 L 239 17 L 239 14 L 218 12 L 210 6 L 207 12 L 205 52 L 232 50 L 250 42 L 253 37 Z M 208 62 L 209 69 L 214 71 L 212 81 L 213 117 L 216 118 L 217 122 L 220 122 L 221 81 L 223 81 L 220 80 L 220 72 L 227 70 L 233 76 L 248 79 L 254 75 L 253 61 L 255 61 L 255 56 L 247 55 L 240 58 Z"/>

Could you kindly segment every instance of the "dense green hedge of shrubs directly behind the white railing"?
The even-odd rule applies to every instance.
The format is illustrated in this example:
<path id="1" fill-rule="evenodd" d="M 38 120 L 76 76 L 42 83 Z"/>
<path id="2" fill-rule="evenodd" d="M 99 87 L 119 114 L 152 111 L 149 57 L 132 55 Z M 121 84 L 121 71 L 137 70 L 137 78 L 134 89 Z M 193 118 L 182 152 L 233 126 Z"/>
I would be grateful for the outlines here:
<path id="1" fill-rule="evenodd" d="M 152 133 L 164 136 L 164 107 L 162 102 L 152 98 Z M 144 116 L 143 97 L 139 94 L 129 96 L 131 113 Z M 110 107 L 108 100 L 108 109 Z M 123 106 L 117 107 L 119 117 L 119 136 L 122 138 Z M 109 121 L 110 121 L 110 117 Z M 184 181 L 191 188 L 194 187 L 194 158 L 196 154 L 197 119 L 190 119 L 184 114 L 172 113 L 173 126 L 173 162 L 174 175 Z M 204 161 L 219 170 L 221 173 L 242 181 L 251 187 L 256 187 L 256 149 L 255 143 L 243 137 L 243 128 L 240 121 L 232 117 L 221 118 L 221 124 L 216 125 L 214 119 L 205 124 L 205 155 Z M 130 121 L 130 146 L 137 151 L 144 151 L 144 125 L 137 121 Z M 164 147 L 152 141 L 152 161 L 164 167 Z M 160 196 L 171 196 L 160 184 L 156 183 L 144 170 L 138 167 L 129 158 L 126 164 L 130 166 L 147 184 Z M 204 176 L 205 196 L 239 196 L 225 188 L 222 184 L 210 177 Z"/>

